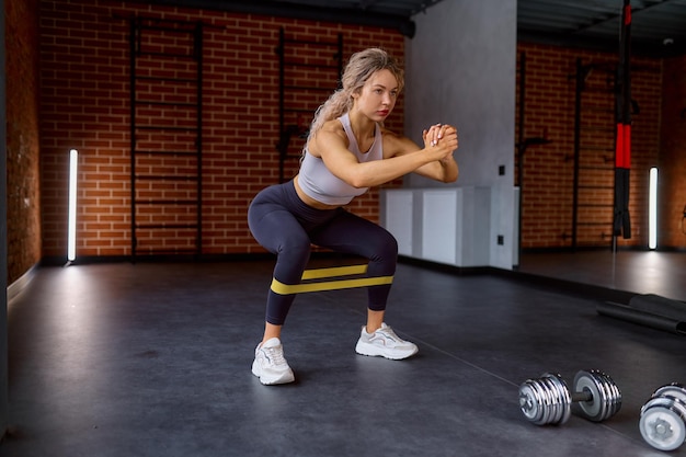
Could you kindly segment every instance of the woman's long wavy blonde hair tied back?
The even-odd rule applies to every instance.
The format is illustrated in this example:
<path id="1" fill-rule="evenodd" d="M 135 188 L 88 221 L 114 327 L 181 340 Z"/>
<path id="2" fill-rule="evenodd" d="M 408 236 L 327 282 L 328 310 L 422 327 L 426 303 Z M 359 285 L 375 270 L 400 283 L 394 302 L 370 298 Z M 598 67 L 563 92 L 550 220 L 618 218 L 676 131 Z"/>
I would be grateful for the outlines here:
<path id="1" fill-rule="evenodd" d="M 324 123 L 350 111 L 353 107 L 353 93 L 359 92 L 367 80 L 380 70 L 389 70 L 398 81 L 398 90 L 402 90 L 404 72 L 398 60 L 388 55 L 386 50 L 373 47 L 353 54 L 341 76 L 342 88 L 331 94 L 329 100 L 315 112 L 307 141 L 309 142 Z"/>

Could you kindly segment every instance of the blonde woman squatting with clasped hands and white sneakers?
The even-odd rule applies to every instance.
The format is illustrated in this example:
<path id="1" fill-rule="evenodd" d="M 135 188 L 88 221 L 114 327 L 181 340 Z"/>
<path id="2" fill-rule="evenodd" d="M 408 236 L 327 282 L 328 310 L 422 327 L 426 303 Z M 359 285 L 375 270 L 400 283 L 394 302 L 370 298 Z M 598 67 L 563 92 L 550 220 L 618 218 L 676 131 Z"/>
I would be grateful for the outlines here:
<path id="1" fill-rule="evenodd" d="M 287 183 L 263 190 L 251 203 L 250 230 L 277 255 L 274 283 L 300 282 L 311 244 L 368 259 L 369 277 L 392 277 L 398 256 L 396 239 L 343 206 L 369 187 L 410 172 L 442 182 L 457 180 L 454 127 L 437 124 L 424 130 L 424 148 L 384 128 L 403 82 L 402 69 L 385 50 L 370 48 L 354 54 L 343 72 L 342 89 L 315 114 L 299 173 Z M 401 340 L 384 322 L 390 284 L 367 290 L 367 322 L 356 352 L 391 359 L 414 355 L 416 345 Z M 295 380 L 281 343 L 282 327 L 294 299 L 295 294 L 282 288 L 275 292 L 274 286 L 268 293 L 264 335 L 252 365 L 252 373 L 262 384 Z"/>

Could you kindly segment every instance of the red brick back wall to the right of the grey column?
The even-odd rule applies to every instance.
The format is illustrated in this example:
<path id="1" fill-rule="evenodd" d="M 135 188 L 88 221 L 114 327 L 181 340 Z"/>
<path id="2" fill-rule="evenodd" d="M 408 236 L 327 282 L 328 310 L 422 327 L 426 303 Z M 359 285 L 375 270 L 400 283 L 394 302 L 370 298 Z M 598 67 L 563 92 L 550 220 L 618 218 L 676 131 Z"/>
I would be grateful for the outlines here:
<path id="1" fill-rule="evenodd" d="M 550 142 L 530 146 L 523 157 L 524 249 L 572 247 L 574 236 L 574 125 L 579 72 L 583 75 L 578 174 L 576 247 L 611 243 L 614 198 L 614 54 L 519 43 L 526 56 L 524 137 Z M 632 238 L 619 245 L 644 247 L 648 240 L 648 170 L 660 153 L 662 61 L 632 59 L 630 214 Z M 578 65 L 580 71 L 578 71 Z M 517 77 L 517 104 L 519 99 Z M 517 108 L 517 138 L 519 138 Z M 684 161 L 684 159 L 682 159 Z M 518 161 L 517 161 L 518 162 Z M 519 163 L 517 163 L 519 165 Z M 517 183 L 518 184 L 518 183 Z"/>

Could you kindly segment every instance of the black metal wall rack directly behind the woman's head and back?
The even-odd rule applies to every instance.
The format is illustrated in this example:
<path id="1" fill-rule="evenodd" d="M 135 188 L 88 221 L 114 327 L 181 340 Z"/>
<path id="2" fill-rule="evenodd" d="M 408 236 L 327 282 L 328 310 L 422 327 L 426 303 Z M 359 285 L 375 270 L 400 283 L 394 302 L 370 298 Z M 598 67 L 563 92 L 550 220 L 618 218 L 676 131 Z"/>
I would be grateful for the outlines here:
<path id="1" fill-rule="evenodd" d="M 333 53 L 332 53 L 333 52 Z M 309 121 L 325 98 L 340 88 L 343 71 L 343 35 L 336 42 L 287 38 L 279 30 L 278 47 L 278 182 L 284 182 L 286 161 L 299 159 L 293 137 L 305 138 Z M 311 81 L 320 81 L 312 84 Z M 336 85 L 331 85 L 331 84 Z M 301 148 L 302 145 L 300 145 Z"/>

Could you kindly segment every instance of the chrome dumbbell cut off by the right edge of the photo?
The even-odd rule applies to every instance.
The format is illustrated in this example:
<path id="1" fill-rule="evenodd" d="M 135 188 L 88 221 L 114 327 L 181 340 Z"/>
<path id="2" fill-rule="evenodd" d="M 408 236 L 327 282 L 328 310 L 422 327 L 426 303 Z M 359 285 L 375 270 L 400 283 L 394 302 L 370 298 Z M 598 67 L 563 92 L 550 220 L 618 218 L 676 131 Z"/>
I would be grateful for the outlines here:
<path id="1" fill-rule="evenodd" d="M 662 386 L 641 408 L 639 429 L 643 439 L 660 450 L 674 450 L 686 441 L 686 388 Z"/>

